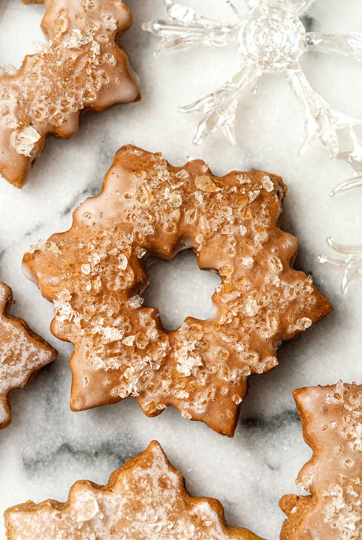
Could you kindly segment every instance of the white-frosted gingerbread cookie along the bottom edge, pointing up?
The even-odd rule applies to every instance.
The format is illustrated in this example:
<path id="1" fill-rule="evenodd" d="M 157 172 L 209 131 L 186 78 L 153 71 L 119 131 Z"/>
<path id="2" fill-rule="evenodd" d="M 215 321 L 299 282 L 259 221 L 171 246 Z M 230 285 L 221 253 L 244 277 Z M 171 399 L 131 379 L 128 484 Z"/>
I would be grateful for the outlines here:
<path id="1" fill-rule="evenodd" d="M 189 495 L 156 441 L 111 474 L 107 485 L 79 481 L 67 503 L 19 504 L 4 518 L 8 540 L 261 540 L 227 527 L 216 499 Z"/>

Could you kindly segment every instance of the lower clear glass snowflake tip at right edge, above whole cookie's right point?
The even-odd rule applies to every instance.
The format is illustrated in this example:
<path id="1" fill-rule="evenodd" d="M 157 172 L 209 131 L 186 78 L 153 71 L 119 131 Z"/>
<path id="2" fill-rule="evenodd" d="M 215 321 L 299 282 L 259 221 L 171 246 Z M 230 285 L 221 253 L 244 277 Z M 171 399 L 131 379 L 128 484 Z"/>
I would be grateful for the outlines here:
<path id="1" fill-rule="evenodd" d="M 327 244 L 343 258 L 332 259 L 326 255 L 318 255 L 317 259 L 322 264 L 327 263 L 344 269 L 341 291 L 346 294 L 351 281 L 362 279 L 362 246 L 342 246 L 330 237 L 327 238 Z"/>

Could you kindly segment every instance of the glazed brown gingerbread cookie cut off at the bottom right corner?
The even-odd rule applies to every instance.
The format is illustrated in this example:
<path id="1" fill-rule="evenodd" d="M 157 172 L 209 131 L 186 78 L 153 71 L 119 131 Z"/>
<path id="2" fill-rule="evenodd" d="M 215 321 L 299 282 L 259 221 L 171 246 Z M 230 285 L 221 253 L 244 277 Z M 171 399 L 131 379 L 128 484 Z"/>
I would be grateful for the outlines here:
<path id="1" fill-rule="evenodd" d="M 313 456 L 297 487 L 285 495 L 288 516 L 281 540 L 357 540 L 362 537 L 362 386 L 343 384 L 294 390 L 305 442 Z"/>

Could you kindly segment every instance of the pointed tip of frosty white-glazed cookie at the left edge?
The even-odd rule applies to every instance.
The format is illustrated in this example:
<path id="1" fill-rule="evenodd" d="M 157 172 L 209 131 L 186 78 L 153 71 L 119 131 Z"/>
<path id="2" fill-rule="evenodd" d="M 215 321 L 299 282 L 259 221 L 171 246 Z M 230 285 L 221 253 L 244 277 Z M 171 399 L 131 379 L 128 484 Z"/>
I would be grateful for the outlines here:
<path id="1" fill-rule="evenodd" d="M 23 319 L 9 315 L 11 303 L 10 287 L 0 282 L 0 429 L 11 422 L 12 390 L 23 388 L 38 369 L 58 354 Z"/>

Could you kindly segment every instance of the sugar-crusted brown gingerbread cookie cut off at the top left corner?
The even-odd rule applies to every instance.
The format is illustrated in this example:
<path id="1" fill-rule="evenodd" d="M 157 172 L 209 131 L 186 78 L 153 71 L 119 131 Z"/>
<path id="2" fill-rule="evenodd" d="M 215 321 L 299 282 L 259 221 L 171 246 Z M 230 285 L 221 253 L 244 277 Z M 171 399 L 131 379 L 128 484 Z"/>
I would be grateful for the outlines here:
<path id="1" fill-rule="evenodd" d="M 48 134 L 68 139 L 81 112 L 137 99 L 139 80 L 118 45 L 132 21 L 120 0 L 45 0 L 48 41 L 19 70 L 0 68 L 0 172 L 11 184 L 23 186 Z"/>

